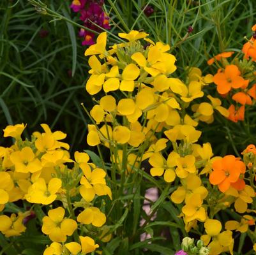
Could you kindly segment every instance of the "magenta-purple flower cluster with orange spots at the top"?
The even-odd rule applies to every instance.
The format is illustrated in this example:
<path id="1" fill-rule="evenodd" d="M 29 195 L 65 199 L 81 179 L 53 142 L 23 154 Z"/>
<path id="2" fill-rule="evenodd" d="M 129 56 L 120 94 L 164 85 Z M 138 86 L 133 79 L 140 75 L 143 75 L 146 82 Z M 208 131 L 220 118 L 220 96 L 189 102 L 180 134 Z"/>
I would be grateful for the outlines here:
<path id="1" fill-rule="evenodd" d="M 99 32 L 102 29 L 110 29 L 109 17 L 103 11 L 104 0 L 73 0 L 70 8 L 73 11 L 80 13 L 85 27 L 89 30 L 80 29 L 79 36 L 84 40 L 82 45 L 92 45 L 94 43 L 93 31 Z"/>

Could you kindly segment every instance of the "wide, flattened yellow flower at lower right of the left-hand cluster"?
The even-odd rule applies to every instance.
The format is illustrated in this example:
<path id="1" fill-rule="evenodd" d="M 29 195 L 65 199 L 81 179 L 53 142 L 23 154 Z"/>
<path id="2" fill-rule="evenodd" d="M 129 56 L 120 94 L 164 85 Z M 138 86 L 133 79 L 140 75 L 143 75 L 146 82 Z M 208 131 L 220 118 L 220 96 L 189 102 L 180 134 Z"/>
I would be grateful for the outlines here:
<path id="1" fill-rule="evenodd" d="M 82 224 L 93 224 L 93 226 L 101 227 L 106 222 L 106 216 L 99 208 L 89 207 L 80 212 L 77 221 Z"/>

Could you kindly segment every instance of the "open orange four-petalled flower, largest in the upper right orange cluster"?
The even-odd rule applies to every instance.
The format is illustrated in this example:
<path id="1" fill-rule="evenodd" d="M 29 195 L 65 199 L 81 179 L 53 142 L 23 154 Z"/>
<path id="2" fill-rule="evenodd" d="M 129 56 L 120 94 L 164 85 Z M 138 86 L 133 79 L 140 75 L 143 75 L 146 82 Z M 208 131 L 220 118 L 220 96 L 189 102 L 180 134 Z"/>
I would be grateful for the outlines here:
<path id="1" fill-rule="evenodd" d="M 218 70 L 218 73 L 213 77 L 213 82 L 217 85 L 217 91 L 220 94 L 225 94 L 231 88 L 238 89 L 247 83 L 243 77 L 240 76 L 241 72 L 234 64 L 225 67 L 225 70 Z"/>

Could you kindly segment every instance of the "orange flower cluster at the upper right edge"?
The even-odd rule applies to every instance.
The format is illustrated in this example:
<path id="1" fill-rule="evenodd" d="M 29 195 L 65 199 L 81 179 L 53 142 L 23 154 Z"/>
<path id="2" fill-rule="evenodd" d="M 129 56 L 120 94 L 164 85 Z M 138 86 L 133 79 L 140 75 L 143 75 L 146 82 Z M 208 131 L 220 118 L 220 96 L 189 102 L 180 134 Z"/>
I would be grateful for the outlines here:
<path id="1" fill-rule="evenodd" d="M 252 31 L 255 33 L 256 26 L 253 25 Z M 256 56 L 255 36 L 252 36 L 245 45 L 242 52 L 243 60 L 236 56 L 231 61 L 234 52 L 222 52 L 209 59 L 209 65 L 216 63 L 218 72 L 213 77 L 216 84 L 216 90 L 228 101 L 232 101 L 229 106 L 228 119 L 233 122 L 245 119 L 245 106 L 253 105 L 256 99 L 255 72 L 253 71 L 253 62 Z"/>

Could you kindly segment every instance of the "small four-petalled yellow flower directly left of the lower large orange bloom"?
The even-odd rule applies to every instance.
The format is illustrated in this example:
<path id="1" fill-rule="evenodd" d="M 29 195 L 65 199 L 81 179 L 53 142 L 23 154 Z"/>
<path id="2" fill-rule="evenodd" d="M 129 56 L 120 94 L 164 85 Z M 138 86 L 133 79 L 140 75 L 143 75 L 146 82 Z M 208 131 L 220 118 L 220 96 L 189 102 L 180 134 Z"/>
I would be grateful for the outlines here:
<path id="1" fill-rule="evenodd" d="M 176 175 L 179 178 L 186 178 L 188 173 L 195 173 L 195 157 L 193 155 L 186 155 L 176 159 Z"/>

